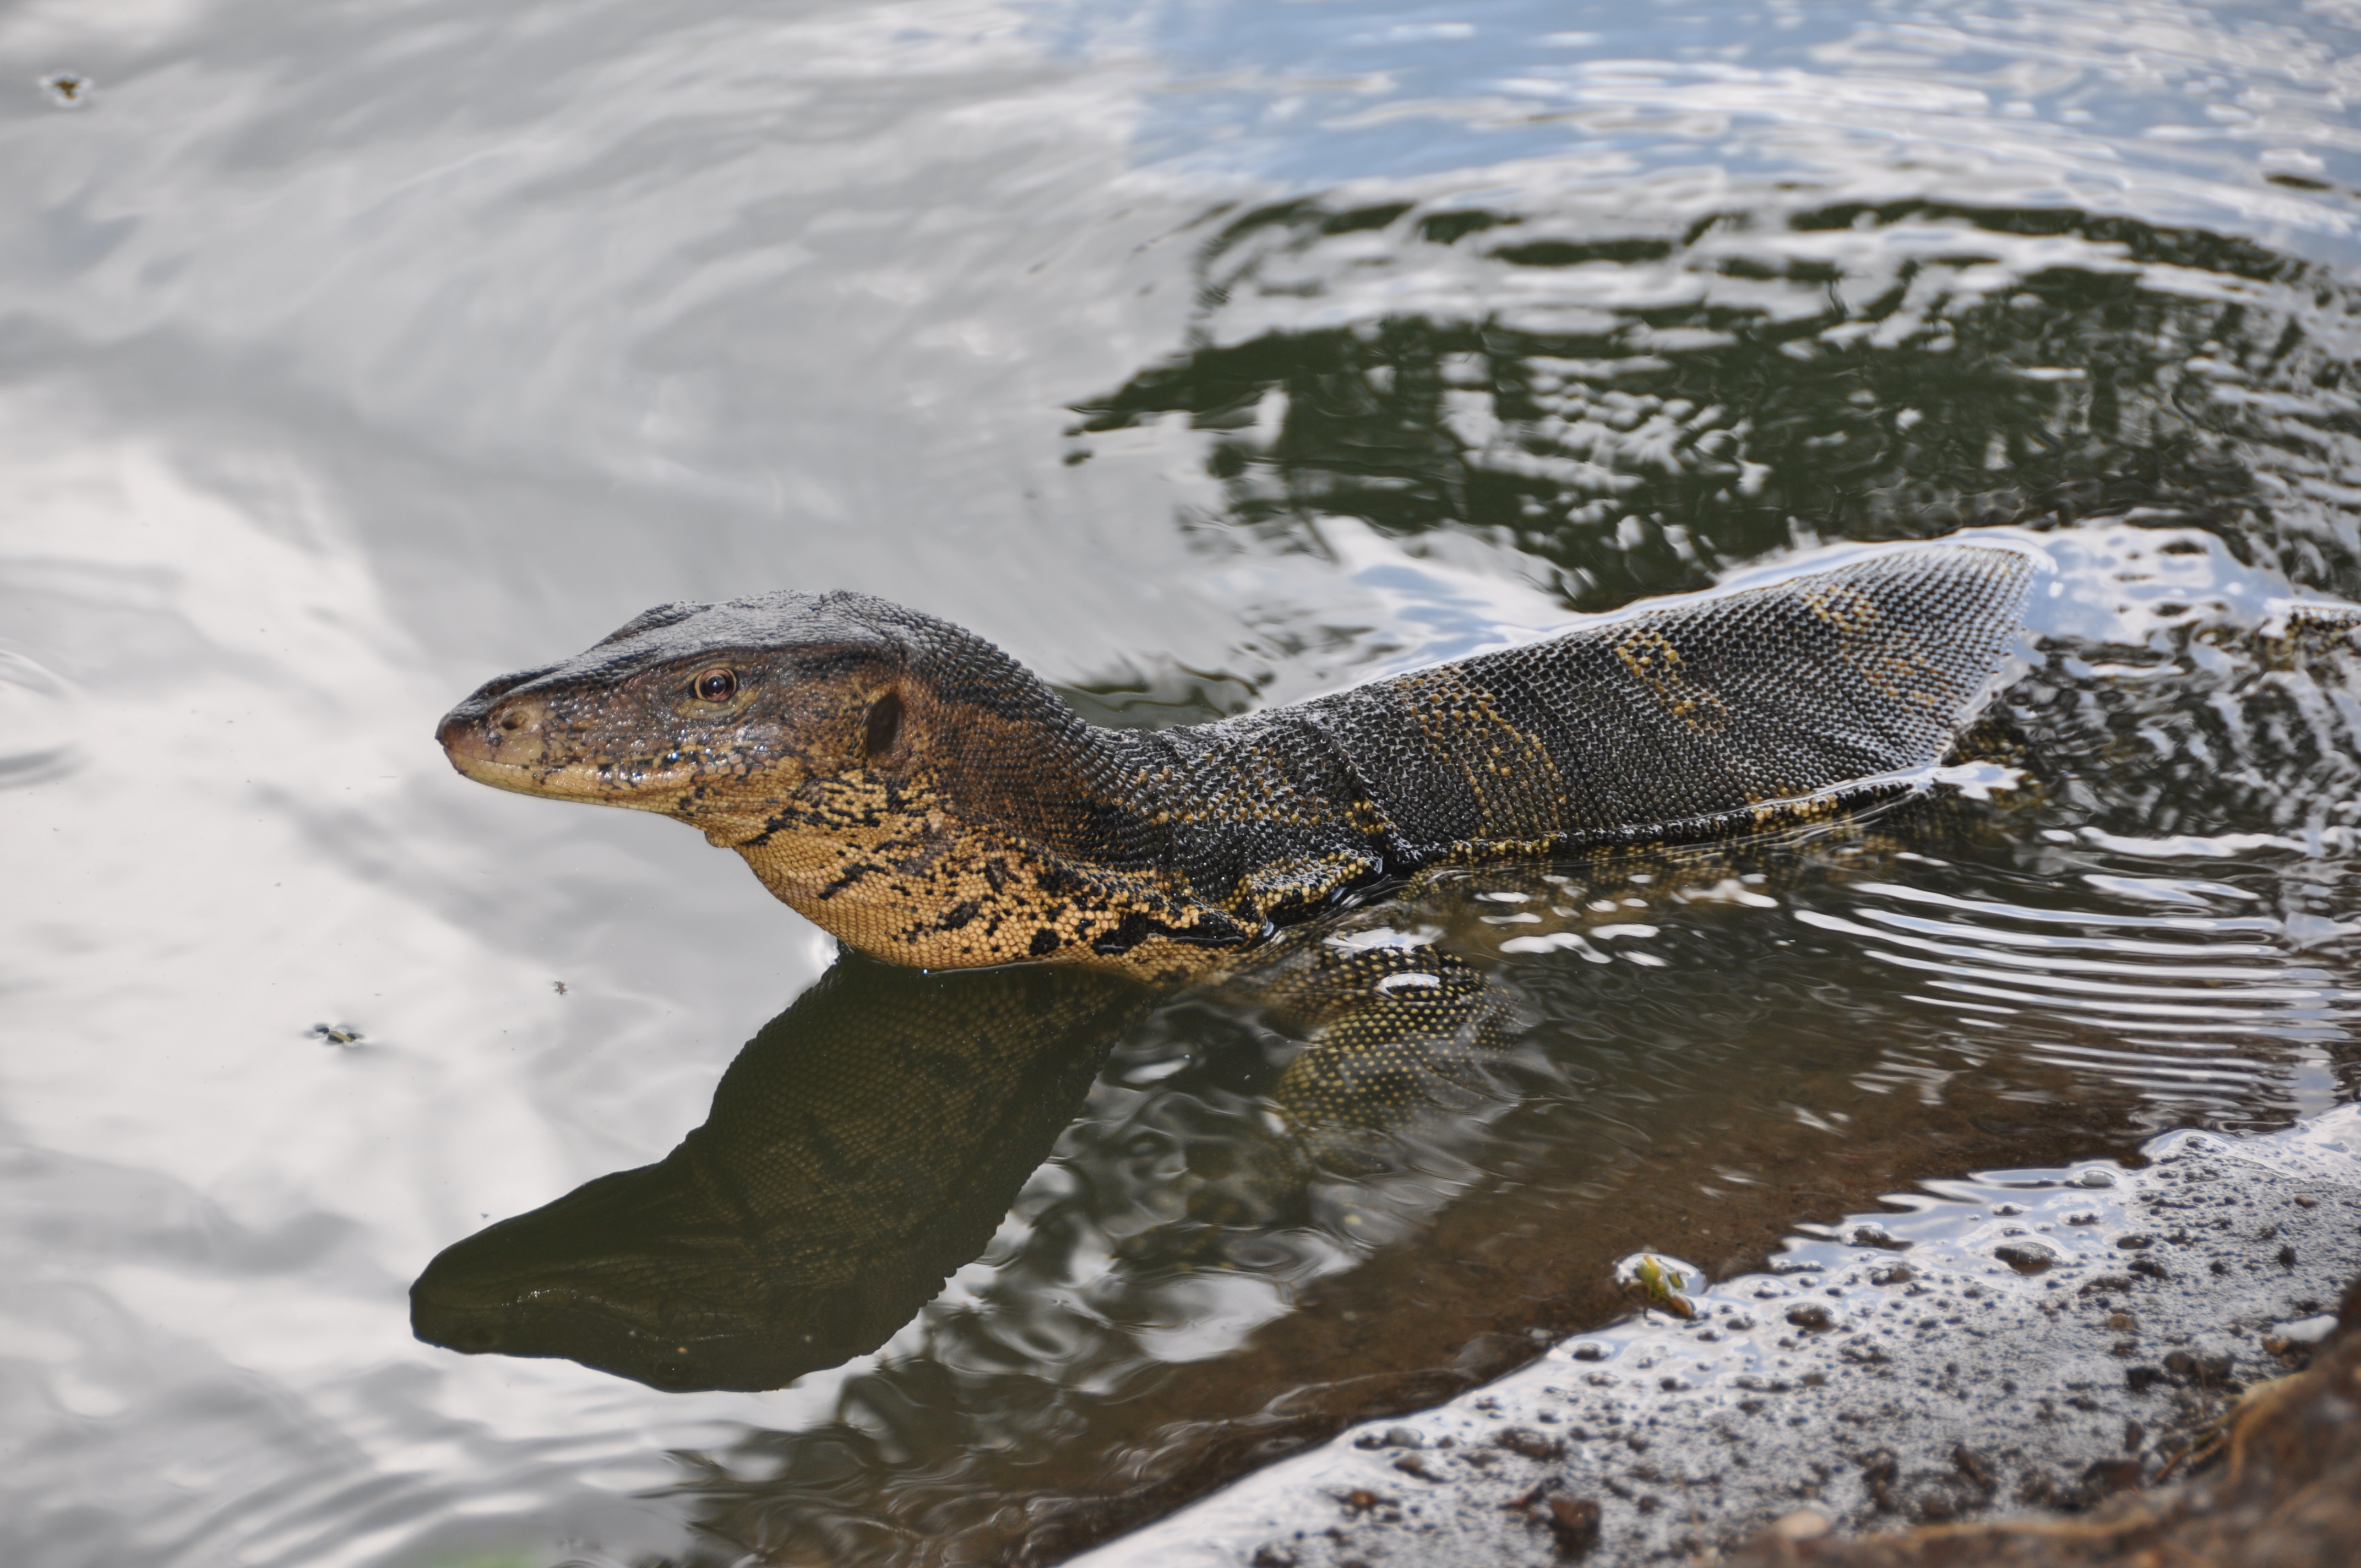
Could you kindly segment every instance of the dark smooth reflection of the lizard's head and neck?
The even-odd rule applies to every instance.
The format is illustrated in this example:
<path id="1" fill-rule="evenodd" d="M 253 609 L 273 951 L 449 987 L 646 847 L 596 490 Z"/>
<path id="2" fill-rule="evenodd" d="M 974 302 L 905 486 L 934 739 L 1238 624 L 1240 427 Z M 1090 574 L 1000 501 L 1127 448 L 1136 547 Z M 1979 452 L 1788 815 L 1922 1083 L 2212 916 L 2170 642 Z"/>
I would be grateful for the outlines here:
<path id="1" fill-rule="evenodd" d="M 779 1389 L 874 1351 L 985 1249 L 1145 1001 L 1103 975 L 845 956 L 678 1150 L 449 1247 L 411 1322 L 659 1389 Z"/>

